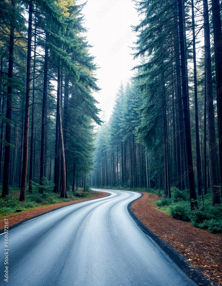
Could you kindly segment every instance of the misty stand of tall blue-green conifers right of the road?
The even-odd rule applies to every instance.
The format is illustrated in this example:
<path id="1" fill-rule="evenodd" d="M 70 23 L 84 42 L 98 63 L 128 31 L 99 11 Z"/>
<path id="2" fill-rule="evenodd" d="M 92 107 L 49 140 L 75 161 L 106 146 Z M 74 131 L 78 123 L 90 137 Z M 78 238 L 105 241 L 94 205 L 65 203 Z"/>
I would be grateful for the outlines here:
<path id="1" fill-rule="evenodd" d="M 219 0 L 138 1 L 135 76 L 121 84 L 97 136 L 91 184 L 188 190 L 191 210 L 221 202 L 222 35 Z M 203 40 L 204 39 L 204 43 Z M 197 47 L 196 47 L 197 46 Z"/>

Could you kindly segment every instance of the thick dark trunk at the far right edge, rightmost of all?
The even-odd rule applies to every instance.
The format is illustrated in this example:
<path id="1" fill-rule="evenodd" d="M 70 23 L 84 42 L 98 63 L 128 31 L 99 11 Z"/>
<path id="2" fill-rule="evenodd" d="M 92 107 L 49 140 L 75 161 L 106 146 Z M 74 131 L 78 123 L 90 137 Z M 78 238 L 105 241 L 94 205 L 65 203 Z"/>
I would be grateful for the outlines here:
<path id="1" fill-rule="evenodd" d="M 214 38 L 214 54 L 215 54 L 216 89 L 217 89 L 217 121 L 218 121 L 218 132 L 219 132 L 220 184 L 222 185 L 222 31 L 221 31 L 221 15 L 220 15 L 219 0 L 212 0 L 212 16 L 213 16 L 213 38 Z"/>

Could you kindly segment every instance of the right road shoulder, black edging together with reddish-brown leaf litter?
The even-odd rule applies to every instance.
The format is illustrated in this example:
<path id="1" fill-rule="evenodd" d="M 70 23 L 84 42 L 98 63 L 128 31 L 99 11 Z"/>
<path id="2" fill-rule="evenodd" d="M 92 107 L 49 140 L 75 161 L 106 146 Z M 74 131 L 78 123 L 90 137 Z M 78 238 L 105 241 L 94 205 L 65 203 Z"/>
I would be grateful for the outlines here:
<path id="1" fill-rule="evenodd" d="M 155 208 L 157 195 L 142 194 L 128 206 L 137 225 L 198 285 L 221 285 L 222 236 L 173 219 Z"/>

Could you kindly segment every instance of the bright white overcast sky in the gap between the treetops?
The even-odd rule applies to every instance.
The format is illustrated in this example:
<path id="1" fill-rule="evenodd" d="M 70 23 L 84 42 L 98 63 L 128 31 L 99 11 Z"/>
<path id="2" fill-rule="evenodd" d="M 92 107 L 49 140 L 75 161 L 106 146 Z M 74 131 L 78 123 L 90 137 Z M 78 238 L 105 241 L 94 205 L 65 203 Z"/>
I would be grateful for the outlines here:
<path id="1" fill-rule="evenodd" d="M 84 2 L 79 0 L 77 3 Z M 83 13 L 87 38 L 93 45 L 90 53 L 96 57 L 95 63 L 100 67 L 96 75 L 102 90 L 93 95 L 100 102 L 99 108 L 107 120 L 121 80 L 124 85 L 127 83 L 133 75 L 131 68 L 138 62 L 133 61 L 129 47 L 136 39 L 131 25 L 138 24 L 139 18 L 131 0 L 88 0 Z"/>

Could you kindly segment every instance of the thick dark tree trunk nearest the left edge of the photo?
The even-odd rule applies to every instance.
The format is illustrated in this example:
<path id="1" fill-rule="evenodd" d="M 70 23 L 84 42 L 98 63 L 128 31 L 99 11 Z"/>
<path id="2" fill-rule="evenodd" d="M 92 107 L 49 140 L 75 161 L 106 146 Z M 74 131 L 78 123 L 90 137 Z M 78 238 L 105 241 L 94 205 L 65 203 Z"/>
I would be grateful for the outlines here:
<path id="1" fill-rule="evenodd" d="M 12 9 L 15 9 L 15 2 L 11 0 Z M 8 65 L 8 87 L 7 87 L 7 103 L 6 103 L 6 119 L 5 124 L 5 156 L 3 169 L 3 184 L 1 198 L 9 194 L 9 168 L 11 158 L 11 103 L 12 103 L 12 77 L 13 77 L 13 51 L 14 51 L 14 31 L 15 27 L 11 23 L 10 41 L 9 41 L 9 65 Z"/>

